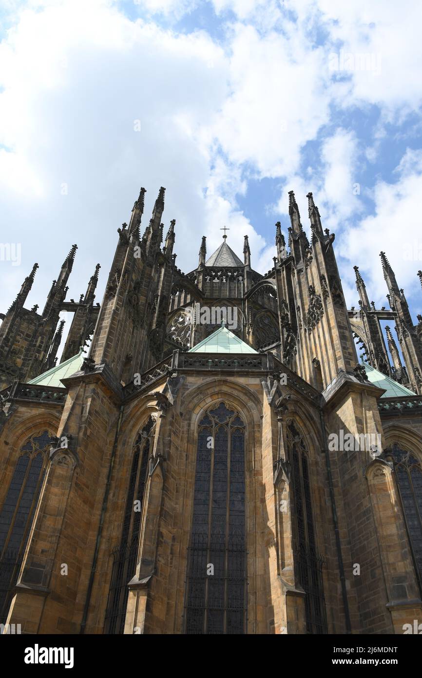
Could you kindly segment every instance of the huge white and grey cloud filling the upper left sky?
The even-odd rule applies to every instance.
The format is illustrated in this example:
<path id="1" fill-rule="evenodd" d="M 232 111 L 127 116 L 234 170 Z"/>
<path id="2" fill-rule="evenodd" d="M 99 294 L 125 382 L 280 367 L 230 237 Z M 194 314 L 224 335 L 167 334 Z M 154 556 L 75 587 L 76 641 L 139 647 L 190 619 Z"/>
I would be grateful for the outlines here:
<path id="1" fill-rule="evenodd" d="M 249 234 L 257 258 L 266 243 L 236 210 L 235 195 L 245 191 L 240 168 L 216 155 L 209 132 L 228 95 L 221 47 L 204 32 L 131 22 L 100 0 L 25 8 L 18 17 L 0 47 L 0 196 L 3 222 L 22 241 L 20 281 L 40 264 L 28 304 L 43 304 L 75 241 L 69 297 L 85 291 L 99 261 L 100 300 L 117 227 L 141 185 L 144 224 L 166 186 L 163 220 L 177 220 L 185 271 L 196 265 L 201 236 L 217 245 L 224 223 L 232 247 L 241 254 Z M 12 273 L 3 262 L 3 281 L 14 283 L 3 282 L 5 306 L 17 292 Z"/>

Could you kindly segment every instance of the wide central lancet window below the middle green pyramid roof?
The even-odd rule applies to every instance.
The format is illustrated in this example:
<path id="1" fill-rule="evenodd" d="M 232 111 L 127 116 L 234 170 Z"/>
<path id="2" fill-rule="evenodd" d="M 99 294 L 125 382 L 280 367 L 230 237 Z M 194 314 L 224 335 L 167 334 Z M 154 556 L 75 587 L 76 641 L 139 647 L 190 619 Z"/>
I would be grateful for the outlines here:
<path id="1" fill-rule="evenodd" d="M 245 633 L 245 424 L 225 403 L 199 422 L 185 632 Z"/>

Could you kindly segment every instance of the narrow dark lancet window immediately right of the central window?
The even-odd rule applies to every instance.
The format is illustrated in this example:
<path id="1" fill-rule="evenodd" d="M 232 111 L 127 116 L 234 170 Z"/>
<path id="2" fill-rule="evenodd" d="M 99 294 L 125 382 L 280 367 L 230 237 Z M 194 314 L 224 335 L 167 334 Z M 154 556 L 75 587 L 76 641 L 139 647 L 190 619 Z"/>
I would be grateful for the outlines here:
<path id="1" fill-rule="evenodd" d="M 287 452 L 291 464 L 291 511 L 293 513 L 293 545 L 295 576 L 305 591 L 306 631 L 326 633 L 323 558 L 316 549 L 308 450 L 295 422 L 287 424 Z"/>

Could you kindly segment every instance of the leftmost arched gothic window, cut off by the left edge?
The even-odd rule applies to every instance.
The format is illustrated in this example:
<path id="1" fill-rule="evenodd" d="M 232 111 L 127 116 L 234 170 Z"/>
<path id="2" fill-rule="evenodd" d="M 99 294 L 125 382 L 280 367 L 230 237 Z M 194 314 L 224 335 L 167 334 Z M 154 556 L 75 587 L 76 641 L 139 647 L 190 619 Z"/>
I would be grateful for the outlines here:
<path id="1" fill-rule="evenodd" d="M 14 475 L 0 512 L 0 621 L 7 614 L 9 591 L 15 586 L 33 524 L 48 452 L 56 439 L 41 431 L 21 447 Z"/>

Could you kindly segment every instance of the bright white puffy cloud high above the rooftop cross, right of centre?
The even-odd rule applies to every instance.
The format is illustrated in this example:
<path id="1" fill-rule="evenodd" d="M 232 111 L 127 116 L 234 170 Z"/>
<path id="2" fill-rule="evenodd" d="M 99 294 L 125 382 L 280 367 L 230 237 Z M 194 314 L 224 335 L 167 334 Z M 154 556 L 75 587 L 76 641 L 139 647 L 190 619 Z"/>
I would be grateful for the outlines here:
<path id="1" fill-rule="evenodd" d="M 300 37 L 292 45 L 278 33 L 262 37 L 253 26 L 237 24 L 234 31 L 232 93 L 213 133 L 232 161 L 253 163 L 259 176 L 290 174 L 305 142 L 329 119 L 324 55 Z"/>

